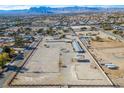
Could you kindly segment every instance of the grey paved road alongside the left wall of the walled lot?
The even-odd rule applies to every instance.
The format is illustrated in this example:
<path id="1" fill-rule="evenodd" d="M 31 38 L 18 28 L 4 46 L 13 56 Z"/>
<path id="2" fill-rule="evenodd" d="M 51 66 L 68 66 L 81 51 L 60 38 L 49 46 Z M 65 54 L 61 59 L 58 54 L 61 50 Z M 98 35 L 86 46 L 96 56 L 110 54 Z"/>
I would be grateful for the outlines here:
<path id="1" fill-rule="evenodd" d="M 36 47 L 36 44 L 38 42 L 35 42 L 33 44 L 34 47 Z M 29 54 L 31 53 L 32 50 L 27 50 L 25 51 L 25 54 Z M 26 58 L 25 58 L 26 59 Z M 8 79 L 8 77 L 10 76 L 10 74 L 12 72 L 16 72 L 17 71 L 17 68 L 16 66 L 20 63 L 20 62 L 23 62 L 25 59 L 22 59 L 22 60 L 15 60 L 14 62 L 12 62 L 11 64 L 13 65 L 10 69 L 4 71 L 3 73 L 0 74 L 0 88 L 3 87 L 3 84 L 5 83 L 5 81 Z"/>

